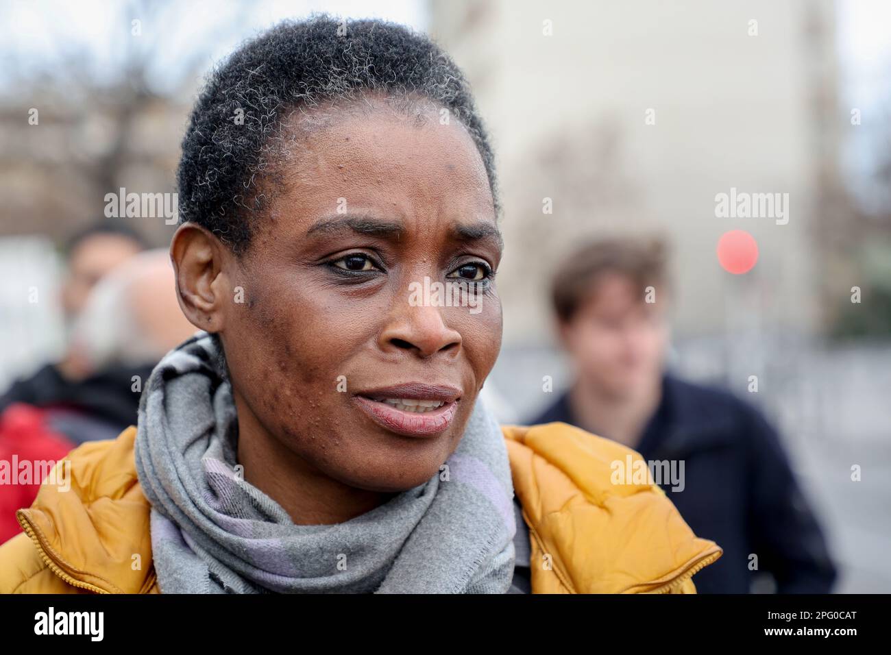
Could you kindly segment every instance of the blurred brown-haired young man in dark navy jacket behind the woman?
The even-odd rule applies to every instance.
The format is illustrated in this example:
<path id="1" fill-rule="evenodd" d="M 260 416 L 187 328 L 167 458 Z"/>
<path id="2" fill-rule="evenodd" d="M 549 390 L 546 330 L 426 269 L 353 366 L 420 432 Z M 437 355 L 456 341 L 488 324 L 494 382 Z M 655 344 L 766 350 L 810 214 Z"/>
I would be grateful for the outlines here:
<path id="1" fill-rule="evenodd" d="M 552 302 L 575 381 L 531 422 L 614 439 L 651 471 L 674 462 L 681 479 L 656 481 L 693 531 L 724 549 L 697 576 L 700 593 L 748 593 L 764 572 L 779 593 L 829 592 L 835 567 L 777 433 L 736 397 L 664 373 L 666 300 L 658 242 L 596 242 L 568 257 Z"/>

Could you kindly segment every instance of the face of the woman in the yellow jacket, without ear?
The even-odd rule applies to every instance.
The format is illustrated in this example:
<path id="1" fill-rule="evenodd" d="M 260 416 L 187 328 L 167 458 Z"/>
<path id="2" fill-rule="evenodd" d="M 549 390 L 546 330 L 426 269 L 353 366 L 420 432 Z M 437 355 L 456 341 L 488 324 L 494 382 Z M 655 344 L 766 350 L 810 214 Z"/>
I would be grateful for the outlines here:
<path id="1" fill-rule="evenodd" d="M 411 488 L 458 445 L 501 347 L 486 168 L 438 112 L 344 112 L 299 134 L 226 264 L 240 424 L 351 487 Z"/>

